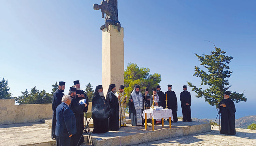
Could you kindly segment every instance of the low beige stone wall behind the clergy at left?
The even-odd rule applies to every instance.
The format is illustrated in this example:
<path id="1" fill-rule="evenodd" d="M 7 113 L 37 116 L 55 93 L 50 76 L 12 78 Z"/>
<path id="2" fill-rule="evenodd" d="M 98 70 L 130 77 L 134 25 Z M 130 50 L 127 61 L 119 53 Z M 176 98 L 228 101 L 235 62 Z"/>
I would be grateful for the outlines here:
<path id="1" fill-rule="evenodd" d="M 52 118 L 52 104 L 14 105 L 14 99 L 0 99 L 0 125 L 39 122 Z M 91 103 L 88 111 L 91 112 Z"/>

